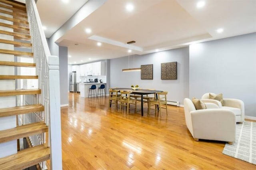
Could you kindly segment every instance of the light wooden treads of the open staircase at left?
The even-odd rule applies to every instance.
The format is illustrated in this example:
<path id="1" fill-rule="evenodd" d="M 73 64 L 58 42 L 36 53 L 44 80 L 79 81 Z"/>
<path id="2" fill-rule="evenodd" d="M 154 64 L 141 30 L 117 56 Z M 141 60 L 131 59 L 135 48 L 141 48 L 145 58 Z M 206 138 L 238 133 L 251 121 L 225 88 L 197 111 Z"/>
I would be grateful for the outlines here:
<path id="1" fill-rule="evenodd" d="M 10 15 L 10 17 L 7 17 L 6 14 Z M 13 24 L 2 23 L 2 20 L 10 21 Z M 13 0 L 0 0 L 0 35 L 13 36 L 14 38 L 14 40 L 5 40 L 0 38 L 0 43 L 10 44 L 14 47 L 31 48 L 32 43 L 30 42 L 31 37 L 28 24 L 25 4 Z M 13 32 L 2 30 L 2 27 L 11 28 Z M 15 57 L 34 56 L 32 52 L 0 49 L 0 56 L 3 54 L 12 54 Z M 5 69 L 5 67 L 36 67 L 36 64 L 34 63 L 21 63 L 14 61 L 0 61 L 0 65 L 4 66 L 3 69 Z M 1 72 L 2 71 L 0 71 L 0 80 L 38 79 L 37 75 L 1 75 Z M 41 94 L 40 89 L 0 90 L 0 97 L 38 94 Z M 40 104 L 1 108 L 0 119 L 3 117 L 42 111 L 44 111 L 44 106 Z M 46 126 L 45 122 L 21 126 L 17 125 L 16 128 L 0 130 L 0 144 L 44 132 L 48 132 L 48 126 Z M 0 170 L 24 169 L 46 161 L 49 158 L 50 148 L 46 144 L 41 144 L 39 146 L 20 150 L 17 154 L 0 158 Z"/>

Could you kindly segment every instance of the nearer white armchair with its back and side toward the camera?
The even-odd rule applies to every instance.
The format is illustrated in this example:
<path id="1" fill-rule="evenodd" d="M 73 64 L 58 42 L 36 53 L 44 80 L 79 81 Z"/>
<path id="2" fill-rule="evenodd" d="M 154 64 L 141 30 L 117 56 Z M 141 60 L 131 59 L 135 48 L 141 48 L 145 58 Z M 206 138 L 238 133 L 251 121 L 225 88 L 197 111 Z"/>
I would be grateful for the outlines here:
<path id="1" fill-rule="evenodd" d="M 236 140 L 236 116 L 227 109 L 205 103 L 207 108 L 196 110 L 192 101 L 184 99 L 186 125 L 194 140 L 220 140 L 232 144 Z"/>

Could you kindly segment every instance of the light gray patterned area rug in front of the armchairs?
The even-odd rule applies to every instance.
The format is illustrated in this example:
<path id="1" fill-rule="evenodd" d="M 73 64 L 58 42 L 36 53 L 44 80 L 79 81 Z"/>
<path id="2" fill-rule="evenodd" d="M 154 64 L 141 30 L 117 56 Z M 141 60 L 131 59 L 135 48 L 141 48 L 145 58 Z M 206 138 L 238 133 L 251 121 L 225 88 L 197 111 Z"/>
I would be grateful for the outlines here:
<path id="1" fill-rule="evenodd" d="M 226 143 L 222 154 L 256 165 L 256 122 L 236 124 L 236 142 Z"/>

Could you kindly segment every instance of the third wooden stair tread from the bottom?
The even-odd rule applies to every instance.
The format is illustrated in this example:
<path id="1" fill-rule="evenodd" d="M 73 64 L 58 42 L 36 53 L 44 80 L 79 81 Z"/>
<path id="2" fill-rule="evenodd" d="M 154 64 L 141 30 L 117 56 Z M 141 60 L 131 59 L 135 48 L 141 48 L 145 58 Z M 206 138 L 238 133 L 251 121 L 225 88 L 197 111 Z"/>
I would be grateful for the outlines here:
<path id="1" fill-rule="evenodd" d="M 44 111 L 44 106 L 37 105 L 25 105 L 25 106 L 16 106 L 0 109 L 0 117 L 20 115 L 24 113 L 40 112 Z"/>

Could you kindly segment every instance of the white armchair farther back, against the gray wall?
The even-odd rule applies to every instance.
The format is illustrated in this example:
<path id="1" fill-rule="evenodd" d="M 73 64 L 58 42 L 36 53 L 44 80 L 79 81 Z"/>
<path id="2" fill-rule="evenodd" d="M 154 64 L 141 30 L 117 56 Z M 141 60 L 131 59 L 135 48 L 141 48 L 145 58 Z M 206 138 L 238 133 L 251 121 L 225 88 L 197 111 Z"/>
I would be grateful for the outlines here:
<path id="1" fill-rule="evenodd" d="M 211 93 L 216 95 L 214 93 Z M 238 99 L 223 99 L 224 106 L 221 105 L 220 101 L 209 99 L 209 93 L 205 93 L 201 101 L 204 103 L 214 103 L 218 105 L 221 109 L 228 109 L 235 113 L 236 115 L 236 122 L 243 123 L 244 122 L 244 102 Z"/>

